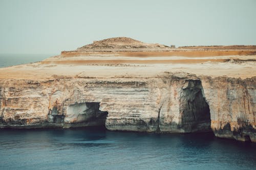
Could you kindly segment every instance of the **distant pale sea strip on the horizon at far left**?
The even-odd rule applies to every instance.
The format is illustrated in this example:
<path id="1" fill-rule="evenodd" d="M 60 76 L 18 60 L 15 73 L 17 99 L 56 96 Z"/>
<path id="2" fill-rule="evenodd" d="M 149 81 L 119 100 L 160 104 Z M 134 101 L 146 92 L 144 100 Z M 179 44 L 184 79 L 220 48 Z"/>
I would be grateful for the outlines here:
<path id="1" fill-rule="evenodd" d="M 0 68 L 37 62 L 56 54 L 0 54 Z"/>

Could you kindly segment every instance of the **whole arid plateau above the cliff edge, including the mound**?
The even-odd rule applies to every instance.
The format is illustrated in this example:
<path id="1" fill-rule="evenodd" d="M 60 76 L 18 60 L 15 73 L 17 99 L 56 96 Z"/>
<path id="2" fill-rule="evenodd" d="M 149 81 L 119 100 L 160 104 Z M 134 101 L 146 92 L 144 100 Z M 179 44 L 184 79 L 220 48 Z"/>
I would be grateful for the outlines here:
<path id="1" fill-rule="evenodd" d="M 1 68 L 0 79 L 154 77 L 164 71 L 212 77 L 256 76 L 255 46 L 217 47 L 173 48 L 125 37 L 112 38 L 95 41 L 75 51 L 61 52 L 41 62 Z"/>

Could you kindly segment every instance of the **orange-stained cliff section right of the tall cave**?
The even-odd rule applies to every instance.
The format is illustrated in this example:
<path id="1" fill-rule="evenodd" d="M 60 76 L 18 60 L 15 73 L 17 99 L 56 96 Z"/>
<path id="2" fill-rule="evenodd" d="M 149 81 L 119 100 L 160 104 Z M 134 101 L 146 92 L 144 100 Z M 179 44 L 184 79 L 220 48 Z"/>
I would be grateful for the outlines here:
<path id="1" fill-rule="evenodd" d="M 215 135 L 256 142 L 256 77 L 245 80 L 203 77 L 202 85 Z"/>

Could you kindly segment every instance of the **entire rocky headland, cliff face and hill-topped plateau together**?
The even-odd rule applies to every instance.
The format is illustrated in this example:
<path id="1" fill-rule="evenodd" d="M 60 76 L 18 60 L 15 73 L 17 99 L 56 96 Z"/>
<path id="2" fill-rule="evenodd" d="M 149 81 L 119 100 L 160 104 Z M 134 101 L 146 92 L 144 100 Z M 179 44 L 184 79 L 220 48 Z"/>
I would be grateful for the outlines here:
<path id="1" fill-rule="evenodd" d="M 0 68 L 0 127 L 213 131 L 256 142 L 255 52 L 117 37 Z"/>

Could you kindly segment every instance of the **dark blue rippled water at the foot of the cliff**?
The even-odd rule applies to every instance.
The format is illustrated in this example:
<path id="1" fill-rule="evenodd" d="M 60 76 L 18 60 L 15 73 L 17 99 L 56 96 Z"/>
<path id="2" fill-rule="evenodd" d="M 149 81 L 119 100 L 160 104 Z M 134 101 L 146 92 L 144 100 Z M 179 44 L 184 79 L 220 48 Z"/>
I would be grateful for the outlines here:
<path id="1" fill-rule="evenodd" d="M 255 169 L 256 145 L 212 134 L 1 130 L 0 169 Z"/>

